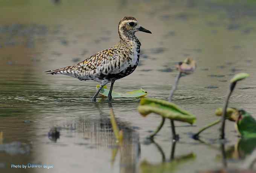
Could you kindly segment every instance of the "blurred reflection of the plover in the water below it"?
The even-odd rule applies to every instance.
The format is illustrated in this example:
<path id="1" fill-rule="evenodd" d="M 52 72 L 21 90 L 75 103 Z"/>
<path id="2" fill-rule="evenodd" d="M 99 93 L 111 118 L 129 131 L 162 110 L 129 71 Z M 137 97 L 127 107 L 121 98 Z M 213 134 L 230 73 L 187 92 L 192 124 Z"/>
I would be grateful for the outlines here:
<path id="1" fill-rule="evenodd" d="M 102 102 L 92 103 L 99 111 L 99 115 L 93 115 L 79 119 L 77 131 L 82 132 L 82 138 L 90 141 L 90 145 L 96 149 L 111 149 L 112 158 L 110 164 L 116 161 L 116 155 L 120 155 L 120 173 L 137 172 L 137 163 L 140 156 L 139 134 L 132 128 L 129 122 L 116 119 L 117 126 L 123 131 L 123 144 L 119 146 L 112 129 L 110 111 L 114 112 L 112 103 L 105 107 Z M 106 113 L 108 112 L 108 113 Z"/>

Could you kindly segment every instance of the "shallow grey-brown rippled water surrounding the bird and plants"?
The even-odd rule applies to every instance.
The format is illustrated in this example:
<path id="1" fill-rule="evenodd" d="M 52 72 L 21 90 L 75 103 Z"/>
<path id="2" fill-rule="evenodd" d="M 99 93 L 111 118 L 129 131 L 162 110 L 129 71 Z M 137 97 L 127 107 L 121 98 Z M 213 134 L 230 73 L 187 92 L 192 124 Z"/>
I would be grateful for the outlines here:
<path id="1" fill-rule="evenodd" d="M 197 115 L 195 126 L 175 122 L 180 141 L 175 144 L 174 158 L 192 153 L 193 156 L 172 166 L 172 172 L 222 167 L 217 140 L 219 126 L 202 135 L 212 147 L 193 140 L 191 134 L 218 119 L 213 113 L 222 106 L 227 80 L 239 72 L 249 73 L 250 78 L 238 83 L 230 106 L 256 113 L 254 3 L 53 2 L 0 2 L 0 14 L 4 16 L 0 18 L 3 172 L 130 173 L 144 172 L 145 162 L 159 165 L 163 158 L 169 161 L 170 124 L 166 121 L 155 143 L 148 143 L 146 136 L 161 118 L 153 114 L 143 118 L 137 111 L 139 99 L 113 100 L 113 111 L 125 137 L 124 145 L 118 148 L 111 130 L 108 100 L 90 101 L 97 83 L 44 73 L 75 64 L 115 44 L 117 24 L 124 15 L 136 17 L 152 34 L 136 33 L 142 43 L 140 65 L 130 76 L 118 80 L 114 90 L 125 93 L 143 88 L 148 97 L 167 99 L 177 75 L 175 63 L 186 57 L 194 58 L 197 71 L 181 78 L 173 99 L 175 104 Z M 53 126 L 60 129 L 56 141 L 47 135 Z M 239 153 L 235 152 L 239 138 L 234 123 L 227 123 L 226 133 L 228 166 L 239 167 L 251 150 L 240 145 Z M 27 163 L 54 168 L 11 169 L 11 164 Z"/>

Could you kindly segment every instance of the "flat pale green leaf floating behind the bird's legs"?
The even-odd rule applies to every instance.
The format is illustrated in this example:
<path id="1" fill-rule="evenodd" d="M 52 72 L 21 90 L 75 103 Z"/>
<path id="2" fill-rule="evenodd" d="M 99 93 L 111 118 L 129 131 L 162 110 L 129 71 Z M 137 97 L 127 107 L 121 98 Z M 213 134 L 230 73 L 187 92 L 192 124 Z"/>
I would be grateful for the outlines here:
<path id="1" fill-rule="evenodd" d="M 97 85 L 96 88 L 98 90 L 99 85 Z M 107 88 L 107 86 L 104 86 L 100 91 L 100 94 L 103 96 L 106 96 L 106 97 L 108 97 L 108 93 L 109 93 L 109 89 Z M 148 92 L 143 89 L 131 91 L 128 93 L 117 93 L 117 92 L 112 91 L 113 98 L 139 98 L 139 97 L 144 97 L 147 94 L 148 94 Z"/>

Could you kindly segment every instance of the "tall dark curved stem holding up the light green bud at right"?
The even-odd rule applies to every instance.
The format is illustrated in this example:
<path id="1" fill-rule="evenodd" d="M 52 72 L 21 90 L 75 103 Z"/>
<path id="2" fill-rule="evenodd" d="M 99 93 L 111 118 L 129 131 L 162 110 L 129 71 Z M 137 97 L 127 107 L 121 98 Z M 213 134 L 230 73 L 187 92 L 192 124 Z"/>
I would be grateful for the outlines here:
<path id="1" fill-rule="evenodd" d="M 227 94 L 226 100 L 224 102 L 223 105 L 223 109 L 222 109 L 222 124 L 221 124 L 221 139 L 225 138 L 225 120 L 226 120 L 226 114 L 227 114 L 227 106 L 229 104 L 229 97 L 231 96 L 234 88 L 236 86 L 236 82 L 230 83 L 230 89 L 229 89 L 229 93 Z"/>

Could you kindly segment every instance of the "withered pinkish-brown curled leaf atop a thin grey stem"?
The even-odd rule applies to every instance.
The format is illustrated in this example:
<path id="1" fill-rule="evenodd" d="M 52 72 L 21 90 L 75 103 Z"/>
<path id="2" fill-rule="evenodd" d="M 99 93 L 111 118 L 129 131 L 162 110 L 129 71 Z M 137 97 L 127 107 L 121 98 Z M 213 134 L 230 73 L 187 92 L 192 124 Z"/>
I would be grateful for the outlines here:
<path id="1" fill-rule="evenodd" d="M 195 71 L 196 64 L 192 58 L 186 58 L 183 62 L 180 62 L 175 66 L 181 73 L 191 74 Z"/>

